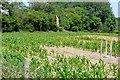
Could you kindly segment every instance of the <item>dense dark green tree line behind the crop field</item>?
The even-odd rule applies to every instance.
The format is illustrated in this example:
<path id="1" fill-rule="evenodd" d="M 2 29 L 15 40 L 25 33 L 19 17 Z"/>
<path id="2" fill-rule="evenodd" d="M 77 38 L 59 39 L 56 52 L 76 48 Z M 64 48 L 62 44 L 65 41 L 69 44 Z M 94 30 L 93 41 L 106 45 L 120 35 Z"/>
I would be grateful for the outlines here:
<path id="1" fill-rule="evenodd" d="M 2 31 L 114 32 L 116 18 L 109 2 L 1 2 Z M 56 15 L 60 26 L 56 25 Z"/>

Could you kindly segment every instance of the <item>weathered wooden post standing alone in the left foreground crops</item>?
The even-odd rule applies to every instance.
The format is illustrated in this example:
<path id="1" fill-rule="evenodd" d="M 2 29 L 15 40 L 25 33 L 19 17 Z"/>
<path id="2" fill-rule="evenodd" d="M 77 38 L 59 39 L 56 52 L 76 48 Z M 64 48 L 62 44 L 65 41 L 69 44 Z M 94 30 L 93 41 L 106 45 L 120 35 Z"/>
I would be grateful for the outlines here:
<path id="1" fill-rule="evenodd" d="M 28 58 L 24 58 L 24 78 L 29 78 L 29 62 Z"/>

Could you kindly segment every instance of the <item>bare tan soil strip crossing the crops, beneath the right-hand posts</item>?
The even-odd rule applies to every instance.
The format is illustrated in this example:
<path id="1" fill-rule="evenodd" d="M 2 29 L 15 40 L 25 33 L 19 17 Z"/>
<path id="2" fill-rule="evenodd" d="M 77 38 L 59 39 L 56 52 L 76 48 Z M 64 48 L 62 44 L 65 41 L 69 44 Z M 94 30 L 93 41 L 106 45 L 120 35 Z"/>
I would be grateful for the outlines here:
<path id="1" fill-rule="evenodd" d="M 110 57 L 109 55 L 105 55 L 105 54 L 102 54 L 100 57 L 100 53 L 97 52 L 86 51 L 73 47 L 43 46 L 43 48 L 46 49 L 48 53 L 50 53 L 53 50 L 55 53 L 63 54 L 65 57 L 85 56 L 92 63 L 98 63 L 99 59 L 101 58 L 102 60 L 104 60 L 106 64 L 111 64 L 111 63 L 118 64 L 118 57 L 117 58 L 115 58 L 114 56 Z"/>

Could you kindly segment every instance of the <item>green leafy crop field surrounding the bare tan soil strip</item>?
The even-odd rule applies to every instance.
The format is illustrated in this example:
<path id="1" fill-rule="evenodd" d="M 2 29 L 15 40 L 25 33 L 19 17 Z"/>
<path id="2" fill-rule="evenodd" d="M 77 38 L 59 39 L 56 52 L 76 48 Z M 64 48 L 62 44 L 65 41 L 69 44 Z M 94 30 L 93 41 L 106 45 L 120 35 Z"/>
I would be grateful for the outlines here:
<path id="1" fill-rule="evenodd" d="M 110 53 L 110 39 L 114 39 L 112 57 L 118 56 L 117 34 L 87 32 L 3 33 L 2 77 L 24 77 L 24 58 L 27 58 L 29 59 L 28 76 L 30 78 L 118 78 L 117 63 L 106 64 L 102 59 L 93 63 L 86 56 L 66 57 L 60 52 L 55 52 L 54 49 L 49 52 L 47 48 L 44 48 L 44 46 L 72 47 L 99 54 L 101 38 L 104 39 L 103 54 L 107 38 L 108 54 Z M 81 53 L 78 51 L 77 54 Z"/>

